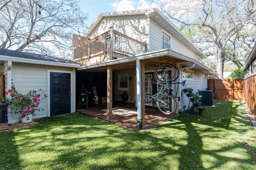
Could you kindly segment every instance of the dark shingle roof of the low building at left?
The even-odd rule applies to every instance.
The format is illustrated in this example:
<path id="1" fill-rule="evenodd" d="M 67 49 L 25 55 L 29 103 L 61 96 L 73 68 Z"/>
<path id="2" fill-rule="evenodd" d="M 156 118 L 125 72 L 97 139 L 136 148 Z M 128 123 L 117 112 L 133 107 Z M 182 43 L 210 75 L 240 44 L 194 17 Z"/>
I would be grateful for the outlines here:
<path id="1" fill-rule="evenodd" d="M 66 63 L 66 64 L 79 64 L 75 61 L 72 61 L 70 59 L 64 59 L 64 58 L 56 58 L 51 56 L 45 56 L 40 54 L 34 54 L 34 53 L 26 53 L 22 51 L 14 51 L 14 50 L 8 50 L 8 49 L 0 49 L 0 55 L 6 56 L 6 57 L 17 57 L 20 59 L 29 59 L 29 60 L 36 60 L 36 61 L 47 61 L 47 62 L 54 62 L 54 63 Z M 0 57 L 1 59 L 1 57 Z M 2 59 L 1 59 L 2 60 Z"/>

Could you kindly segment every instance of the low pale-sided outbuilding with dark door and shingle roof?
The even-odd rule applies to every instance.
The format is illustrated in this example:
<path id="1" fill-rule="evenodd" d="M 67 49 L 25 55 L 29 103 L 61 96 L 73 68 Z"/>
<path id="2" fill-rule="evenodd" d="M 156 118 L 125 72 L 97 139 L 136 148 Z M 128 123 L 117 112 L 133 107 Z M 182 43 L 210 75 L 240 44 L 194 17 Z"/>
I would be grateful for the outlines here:
<path id="1" fill-rule="evenodd" d="M 42 89 L 48 95 L 40 101 L 44 111 L 36 112 L 34 118 L 75 112 L 76 68 L 79 66 L 64 58 L 0 49 L 4 90 L 11 89 L 13 82 L 22 94 Z M 20 122 L 20 115 L 8 113 L 8 124 L 16 122 Z"/>

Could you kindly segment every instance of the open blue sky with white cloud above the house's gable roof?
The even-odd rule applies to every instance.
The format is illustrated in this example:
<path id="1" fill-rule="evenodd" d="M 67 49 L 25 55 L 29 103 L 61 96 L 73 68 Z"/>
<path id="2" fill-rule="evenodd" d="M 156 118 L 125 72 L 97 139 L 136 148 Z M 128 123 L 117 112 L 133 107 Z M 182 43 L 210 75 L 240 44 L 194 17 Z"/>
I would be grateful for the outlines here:
<path id="1" fill-rule="evenodd" d="M 101 13 L 156 8 L 152 0 L 80 0 L 80 9 L 88 15 L 85 21 L 90 27 Z"/>

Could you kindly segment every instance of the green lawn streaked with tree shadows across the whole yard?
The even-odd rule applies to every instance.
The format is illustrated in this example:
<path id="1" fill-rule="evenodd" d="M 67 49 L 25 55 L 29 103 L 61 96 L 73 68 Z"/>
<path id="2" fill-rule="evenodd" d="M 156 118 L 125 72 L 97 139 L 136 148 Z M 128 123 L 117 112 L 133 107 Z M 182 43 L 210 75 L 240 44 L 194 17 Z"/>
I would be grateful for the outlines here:
<path id="1" fill-rule="evenodd" d="M 256 131 L 245 105 L 214 104 L 204 117 L 182 113 L 142 132 L 82 114 L 38 119 L 0 133 L 0 169 L 256 169 Z"/>

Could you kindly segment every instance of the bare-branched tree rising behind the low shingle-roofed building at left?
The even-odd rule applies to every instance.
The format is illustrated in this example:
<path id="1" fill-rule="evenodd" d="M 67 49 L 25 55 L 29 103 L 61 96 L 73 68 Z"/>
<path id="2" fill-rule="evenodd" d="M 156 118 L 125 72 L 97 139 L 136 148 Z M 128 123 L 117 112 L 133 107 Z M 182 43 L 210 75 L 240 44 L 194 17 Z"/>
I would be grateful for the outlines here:
<path id="1" fill-rule="evenodd" d="M 2 0 L 0 9 L 0 48 L 50 55 L 71 50 L 72 32 L 88 16 L 77 0 Z"/>

